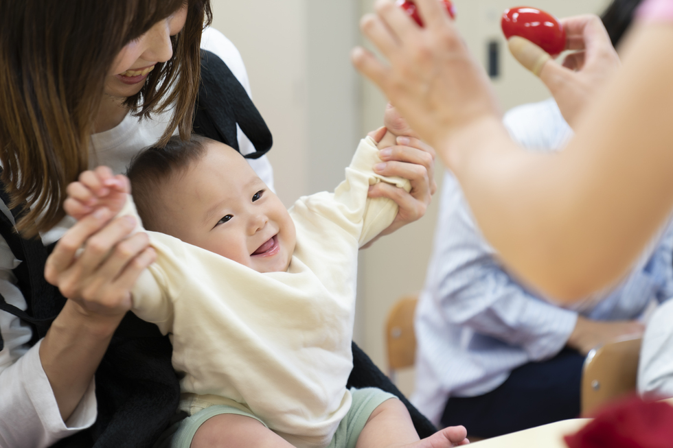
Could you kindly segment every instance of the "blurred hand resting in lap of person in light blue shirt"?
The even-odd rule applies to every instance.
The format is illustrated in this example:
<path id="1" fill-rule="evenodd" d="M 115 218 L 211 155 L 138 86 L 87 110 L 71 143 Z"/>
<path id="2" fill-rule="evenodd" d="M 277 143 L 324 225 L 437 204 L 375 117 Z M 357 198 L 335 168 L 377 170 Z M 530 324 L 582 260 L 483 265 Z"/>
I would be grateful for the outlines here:
<path id="1" fill-rule="evenodd" d="M 642 335 L 643 331 L 645 326 L 637 320 L 599 321 L 578 316 L 567 346 L 586 355 L 597 346 L 613 342 L 621 336 Z"/>

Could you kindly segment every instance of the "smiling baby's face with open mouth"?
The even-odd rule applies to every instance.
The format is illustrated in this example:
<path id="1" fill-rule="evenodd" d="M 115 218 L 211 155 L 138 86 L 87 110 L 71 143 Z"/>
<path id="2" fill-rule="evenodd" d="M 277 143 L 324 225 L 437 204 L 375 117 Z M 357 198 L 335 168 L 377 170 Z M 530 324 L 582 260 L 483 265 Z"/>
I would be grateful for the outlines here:
<path id="1" fill-rule="evenodd" d="M 258 272 L 286 271 L 295 250 L 287 209 L 236 150 L 206 145 L 163 192 L 167 233 Z"/>

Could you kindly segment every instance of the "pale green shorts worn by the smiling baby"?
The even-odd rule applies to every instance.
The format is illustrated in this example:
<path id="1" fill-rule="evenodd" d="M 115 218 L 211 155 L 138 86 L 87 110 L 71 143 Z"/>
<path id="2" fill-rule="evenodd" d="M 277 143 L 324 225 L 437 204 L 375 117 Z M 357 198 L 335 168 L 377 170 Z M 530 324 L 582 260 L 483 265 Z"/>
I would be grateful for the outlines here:
<path id="1" fill-rule="evenodd" d="M 384 401 L 397 398 L 395 395 L 383 392 L 383 390 L 377 388 L 352 388 L 350 393 L 353 397 L 350 410 L 343 417 L 341 423 L 339 423 L 339 427 L 336 428 L 336 433 L 334 433 L 334 437 L 328 448 L 355 448 L 358 437 L 360 437 L 360 433 L 365 427 L 369 416 L 372 415 L 372 412 Z M 266 424 L 260 418 L 249 412 L 227 405 L 214 405 L 196 412 L 196 414 L 181 421 L 172 438 L 170 447 L 190 448 L 196 430 L 209 418 L 220 414 L 236 414 L 254 418 L 266 427 Z"/>

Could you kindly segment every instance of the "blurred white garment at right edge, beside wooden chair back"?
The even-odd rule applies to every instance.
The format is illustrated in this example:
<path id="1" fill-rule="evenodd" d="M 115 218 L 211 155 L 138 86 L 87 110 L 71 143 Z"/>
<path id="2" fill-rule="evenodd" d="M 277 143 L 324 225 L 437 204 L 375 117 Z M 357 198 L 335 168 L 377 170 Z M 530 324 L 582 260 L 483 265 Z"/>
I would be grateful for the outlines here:
<path id="1" fill-rule="evenodd" d="M 638 393 L 645 399 L 673 397 L 673 300 L 654 311 L 643 336 Z"/>

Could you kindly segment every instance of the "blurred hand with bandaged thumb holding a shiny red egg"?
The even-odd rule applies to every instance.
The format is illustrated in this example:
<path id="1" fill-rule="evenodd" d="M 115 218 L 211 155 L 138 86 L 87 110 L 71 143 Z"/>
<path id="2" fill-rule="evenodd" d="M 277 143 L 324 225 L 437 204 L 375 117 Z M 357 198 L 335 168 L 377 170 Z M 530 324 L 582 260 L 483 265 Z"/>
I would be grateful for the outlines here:
<path id="1" fill-rule="evenodd" d="M 562 65 L 524 38 L 510 38 L 509 47 L 514 58 L 547 85 L 564 119 L 574 128 L 584 106 L 617 73 L 621 62 L 600 17 L 586 14 L 560 22 L 567 35 L 566 49 L 576 50 Z"/>

